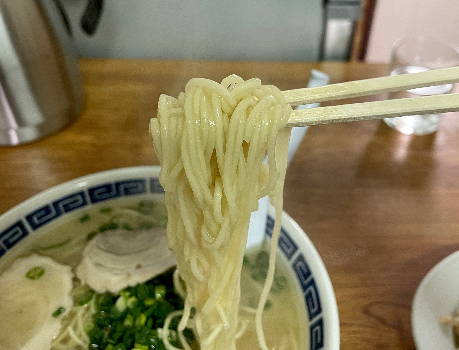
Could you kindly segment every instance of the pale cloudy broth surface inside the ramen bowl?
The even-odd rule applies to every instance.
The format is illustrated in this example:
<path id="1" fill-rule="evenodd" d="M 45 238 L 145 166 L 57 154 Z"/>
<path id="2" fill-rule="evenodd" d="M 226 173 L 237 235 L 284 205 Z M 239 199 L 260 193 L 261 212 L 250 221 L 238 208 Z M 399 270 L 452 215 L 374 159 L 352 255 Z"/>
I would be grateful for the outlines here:
<path id="1" fill-rule="evenodd" d="M 82 259 L 83 249 L 88 243 L 88 234 L 97 231 L 101 224 L 107 221 L 107 218 L 113 216 L 101 213 L 101 209 L 112 208 L 113 211 L 119 208 L 134 209 L 141 200 L 154 201 L 155 206 L 151 215 L 155 220 L 161 220 L 164 215 L 167 215 L 164 198 L 161 195 L 109 200 L 92 205 L 89 209 L 77 210 L 62 219 L 51 222 L 43 229 L 31 233 L 27 239 L 9 250 L 0 259 L 0 274 L 6 271 L 17 257 L 32 253 L 50 256 L 56 261 L 70 265 L 74 270 Z M 85 215 L 89 215 L 90 219 L 81 222 L 80 219 Z M 145 218 L 140 219 L 138 224 L 142 220 Z M 135 224 L 134 222 L 133 226 Z M 62 246 L 49 248 L 59 244 Z M 48 249 L 43 249 L 46 247 Z M 260 249 L 261 247 L 252 248 L 250 252 L 246 253 L 246 257 L 249 260 L 254 260 Z M 308 346 L 306 310 L 301 301 L 302 294 L 299 286 L 296 286 L 297 283 L 291 283 L 295 277 L 291 269 L 286 267 L 286 263 L 285 257 L 278 254 L 276 275 L 285 276 L 287 284 L 279 293 L 269 294 L 271 305 L 263 312 L 264 334 L 270 349 L 305 350 Z M 78 284 L 76 277 L 75 282 Z M 251 269 L 244 264 L 241 274 L 241 305 L 256 307 L 262 287 L 262 282 L 255 281 L 252 278 Z M 237 348 L 240 350 L 260 349 L 255 330 L 255 315 L 241 310 L 240 316 L 245 320 L 247 329 L 242 337 L 237 340 Z M 297 344 L 297 347 L 289 345 L 292 344 L 292 341 Z"/>

